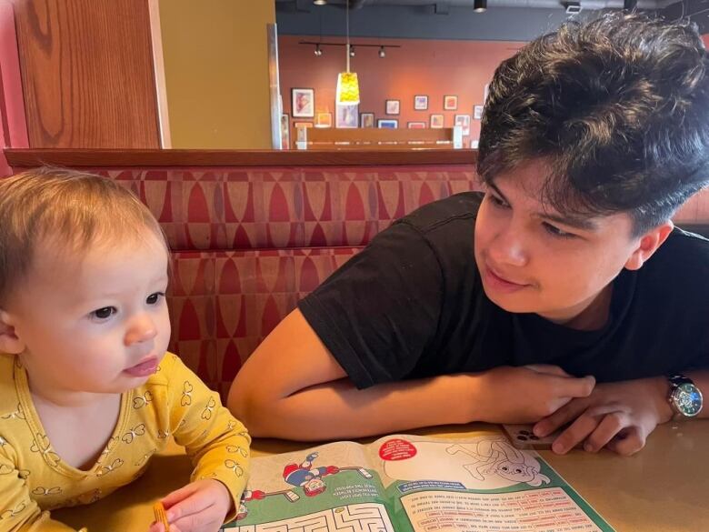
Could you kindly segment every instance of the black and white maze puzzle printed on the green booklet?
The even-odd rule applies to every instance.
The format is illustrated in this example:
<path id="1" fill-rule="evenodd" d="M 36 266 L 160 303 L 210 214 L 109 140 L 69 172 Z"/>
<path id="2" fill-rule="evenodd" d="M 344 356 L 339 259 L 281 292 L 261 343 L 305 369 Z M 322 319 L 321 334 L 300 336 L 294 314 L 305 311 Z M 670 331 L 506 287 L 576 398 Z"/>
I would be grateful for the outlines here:
<path id="1" fill-rule="evenodd" d="M 303 517 L 261 525 L 225 528 L 225 532 L 394 532 L 383 505 L 336 507 Z"/>

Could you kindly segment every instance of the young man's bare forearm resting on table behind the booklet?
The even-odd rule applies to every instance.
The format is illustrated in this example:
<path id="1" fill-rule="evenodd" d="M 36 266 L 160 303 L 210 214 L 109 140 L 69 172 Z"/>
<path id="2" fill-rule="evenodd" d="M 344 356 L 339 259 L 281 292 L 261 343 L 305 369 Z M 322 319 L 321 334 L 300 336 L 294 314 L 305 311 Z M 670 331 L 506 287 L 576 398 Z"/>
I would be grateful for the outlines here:
<path id="1" fill-rule="evenodd" d="M 475 417 L 479 379 L 436 376 L 364 390 L 340 379 L 272 401 L 251 401 L 247 425 L 257 437 L 320 440 L 467 423 Z"/>

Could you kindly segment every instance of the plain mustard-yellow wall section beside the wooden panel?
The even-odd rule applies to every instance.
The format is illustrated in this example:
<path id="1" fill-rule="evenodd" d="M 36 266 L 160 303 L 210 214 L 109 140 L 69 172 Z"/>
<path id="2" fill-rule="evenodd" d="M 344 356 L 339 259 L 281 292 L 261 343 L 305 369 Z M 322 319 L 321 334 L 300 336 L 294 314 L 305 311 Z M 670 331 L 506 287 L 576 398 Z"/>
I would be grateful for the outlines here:
<path id="1" fill-rule="evenodd" d="M 160 0 L 174 148 L 271 148 L 274 0 Z"/>

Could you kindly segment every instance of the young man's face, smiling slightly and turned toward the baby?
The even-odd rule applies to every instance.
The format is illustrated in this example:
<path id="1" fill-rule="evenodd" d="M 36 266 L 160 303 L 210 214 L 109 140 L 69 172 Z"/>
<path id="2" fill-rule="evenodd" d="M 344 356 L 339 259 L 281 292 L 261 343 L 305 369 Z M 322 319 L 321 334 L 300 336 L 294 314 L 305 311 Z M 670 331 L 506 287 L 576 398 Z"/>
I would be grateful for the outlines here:
<path id="1" fill-rule="evenodd" d="M 572 220 L 544 206 L 545 172 L 531 162 L 494 179 L 475 223 L 475 261 L 496 305 L 564 323 L 656 246 L 632 236 L 627 214 Z"/>

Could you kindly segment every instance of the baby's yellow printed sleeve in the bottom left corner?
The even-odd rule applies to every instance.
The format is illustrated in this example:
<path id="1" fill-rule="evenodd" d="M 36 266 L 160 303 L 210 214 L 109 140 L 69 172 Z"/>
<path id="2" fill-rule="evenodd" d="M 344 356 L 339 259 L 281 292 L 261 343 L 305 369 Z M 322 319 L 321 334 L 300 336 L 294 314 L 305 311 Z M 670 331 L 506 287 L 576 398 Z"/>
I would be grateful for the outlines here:
<path id="1" fill-rule="evenodd" d="M 55 521 L 49 517 L 49 512 L 37 506 L 15 462 L 5 454 L 6 447 L 9 444 L 0 452 L 0 532 L 76 532 L 75 528 Z"/>

